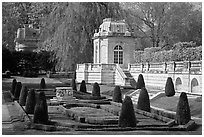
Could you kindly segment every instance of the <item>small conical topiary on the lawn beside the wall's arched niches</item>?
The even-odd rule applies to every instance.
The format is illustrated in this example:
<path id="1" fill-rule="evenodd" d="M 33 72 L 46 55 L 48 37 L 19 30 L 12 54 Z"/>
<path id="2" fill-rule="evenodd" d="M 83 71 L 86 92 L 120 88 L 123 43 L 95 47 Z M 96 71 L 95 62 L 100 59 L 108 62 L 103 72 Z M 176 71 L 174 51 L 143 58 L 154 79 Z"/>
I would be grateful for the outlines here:
<path id="1" fill-rule="evenodd" d="M 174 83 L 171 77 L 167 78 L 165 85 L 165 94 L 167 97 L 171 97 L 175 95 Z"/>

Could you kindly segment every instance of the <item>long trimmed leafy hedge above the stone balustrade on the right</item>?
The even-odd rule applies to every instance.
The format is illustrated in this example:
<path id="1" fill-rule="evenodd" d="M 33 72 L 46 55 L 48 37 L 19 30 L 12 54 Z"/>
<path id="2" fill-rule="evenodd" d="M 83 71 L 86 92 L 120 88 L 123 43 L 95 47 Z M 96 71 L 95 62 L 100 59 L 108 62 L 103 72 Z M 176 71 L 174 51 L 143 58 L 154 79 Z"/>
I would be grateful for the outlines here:
<path id="1" fill-rule="evenodd" d="M 178 42 L 171 50 L 160 50 L 157 47 L 146 48 L 144 51 L 135 51 L 135 62 L 202 60 L 202 46 L 195 46 L 195 43 L 192 42 Z"/>

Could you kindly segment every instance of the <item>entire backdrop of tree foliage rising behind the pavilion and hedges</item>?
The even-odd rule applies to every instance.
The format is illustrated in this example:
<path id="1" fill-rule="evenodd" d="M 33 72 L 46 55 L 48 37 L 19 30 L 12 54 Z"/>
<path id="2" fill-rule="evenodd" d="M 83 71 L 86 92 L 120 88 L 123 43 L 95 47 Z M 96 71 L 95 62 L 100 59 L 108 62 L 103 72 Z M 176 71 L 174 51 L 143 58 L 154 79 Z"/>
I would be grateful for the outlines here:
<path id="1" fill-rule="evenodd" d="M 39 49 L 52 53 L 47 64 L 55 62 L 57 71 L 73 70 L 77 63 L 92 62 L 92 37 L 104 18 L 125 19 L 137 40 L 141 38 L 139 49 L 202 44 L 201 3 L 3 2 L 2 45 L 14 49 L 17 29 L 33 24 L 41 29 Z"/>

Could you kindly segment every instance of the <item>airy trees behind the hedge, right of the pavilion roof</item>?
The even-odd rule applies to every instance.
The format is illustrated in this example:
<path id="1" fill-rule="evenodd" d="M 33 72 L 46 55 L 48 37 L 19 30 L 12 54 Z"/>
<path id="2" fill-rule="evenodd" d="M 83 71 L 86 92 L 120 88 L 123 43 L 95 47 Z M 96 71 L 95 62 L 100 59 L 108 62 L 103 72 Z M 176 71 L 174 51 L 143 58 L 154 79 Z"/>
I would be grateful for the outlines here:
<path id="1" fill-rule="evenodd" d="M 122 7 L 130 16 L 142 22 L 132 25 L 138 28 L 137 37 L 150 40 L 151 45 L 144 47 L 161 46 L 168 49 L 174 43 L 189 41 L 201 45 L 201 3 L 125 2 Z"/>

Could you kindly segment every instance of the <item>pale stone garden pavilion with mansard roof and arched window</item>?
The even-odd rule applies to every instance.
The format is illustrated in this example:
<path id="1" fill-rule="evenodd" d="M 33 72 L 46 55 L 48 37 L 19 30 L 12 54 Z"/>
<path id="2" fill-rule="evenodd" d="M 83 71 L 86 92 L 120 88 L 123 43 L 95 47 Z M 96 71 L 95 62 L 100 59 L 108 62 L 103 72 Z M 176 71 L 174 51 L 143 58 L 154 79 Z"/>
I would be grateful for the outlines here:
<path id="1" fill-rule="evenodd" d="M 106 18 L 94 34 L 94 64 L 119 64 L 127 68 L 133 63 L 135 38 L 124 20 Z"/>

